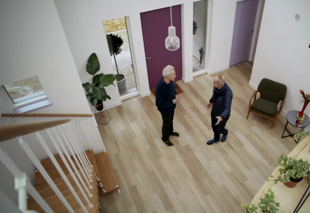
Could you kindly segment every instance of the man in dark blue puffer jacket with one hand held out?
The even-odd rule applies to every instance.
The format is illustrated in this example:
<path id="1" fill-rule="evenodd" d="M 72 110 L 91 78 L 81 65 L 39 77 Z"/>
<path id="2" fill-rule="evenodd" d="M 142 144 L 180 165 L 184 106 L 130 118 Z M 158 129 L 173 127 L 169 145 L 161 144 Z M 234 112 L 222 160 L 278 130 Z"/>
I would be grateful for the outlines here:
<path id="1" fill-rule="evenodd" d="M 228 87 L 224 75 L 217 75 L 213 81 L 213 95 L 207 105 L 211 109 L 211 125 L 214 138 L 207 142 L 208 145 L 218 143 L 220 134 L 223 134 L 221 142 L 227 138 L 228 130 L 225 129 L 226 122 L 230 116 L 232 104 L 232 90 Z"/>

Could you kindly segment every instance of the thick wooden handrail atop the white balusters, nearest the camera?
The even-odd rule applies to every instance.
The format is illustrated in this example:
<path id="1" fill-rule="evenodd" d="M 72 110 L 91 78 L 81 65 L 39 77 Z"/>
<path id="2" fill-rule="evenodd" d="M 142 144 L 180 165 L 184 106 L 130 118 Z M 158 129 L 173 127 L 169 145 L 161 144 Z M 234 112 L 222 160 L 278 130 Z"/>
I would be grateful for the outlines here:
<path id="1" fill-rule="evenodd" d="M 27 135 L 36 131 L 40 131 L 53 126 L 58 126 L 71 121 L 71 119 L 55 120 L 55 121 L 42 121 L 33 123 L 20 123 L 12 125 L 0 126 L 0 142 L 9 140 L 21 135 Z"/>

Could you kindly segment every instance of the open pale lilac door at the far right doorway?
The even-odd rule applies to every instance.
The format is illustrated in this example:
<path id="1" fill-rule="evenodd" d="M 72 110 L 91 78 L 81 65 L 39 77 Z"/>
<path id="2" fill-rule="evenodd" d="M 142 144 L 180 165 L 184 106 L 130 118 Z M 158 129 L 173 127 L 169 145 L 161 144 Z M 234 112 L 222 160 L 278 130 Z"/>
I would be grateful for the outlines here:
<path id="1" fill-rule="evenodd" d="M 229 66 L 249 60 L 258 0 L 237 2 Z"/>

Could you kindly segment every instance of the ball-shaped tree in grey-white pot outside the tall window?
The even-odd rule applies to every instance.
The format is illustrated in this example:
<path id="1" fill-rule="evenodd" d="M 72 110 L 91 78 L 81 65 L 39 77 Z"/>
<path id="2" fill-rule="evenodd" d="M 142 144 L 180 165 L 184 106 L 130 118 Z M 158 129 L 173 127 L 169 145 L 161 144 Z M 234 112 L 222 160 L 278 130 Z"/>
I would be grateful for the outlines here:
<path id="1" fill-rule="evenodd" d="M 122 92 L 126 90 L 126 75 L 124 73 L 118 72 L 115 55 L 118 55 L 122 52 L 121 46 L 123 45 L 123 39 L 118 35 L 114 35 L 113 33 L 110 33 L 107 35 L 107 40 L 108 40 L 110 55 L 111 56 L 113 55 L 114 61 L 115 61 L 117 74 L 115 74 L 114 76 L 116 78 L 118 91 Z"/>

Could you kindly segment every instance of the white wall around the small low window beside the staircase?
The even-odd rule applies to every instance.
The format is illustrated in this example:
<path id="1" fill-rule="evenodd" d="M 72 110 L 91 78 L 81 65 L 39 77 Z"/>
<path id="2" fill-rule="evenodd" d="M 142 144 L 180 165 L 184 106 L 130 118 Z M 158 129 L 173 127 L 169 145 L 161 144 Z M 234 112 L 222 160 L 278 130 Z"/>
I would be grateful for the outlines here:
<path id="1" fill-rule="evenodd" d="M 1 1 L 0 20 L 0 85 L 37 75 L 53 105 L 35 113 L 91 113 L 54 1 Z M 0 107 L 0 113 L 12 113 L 5 104 Z M 8 122 L 0 120 L 0 124 Z M 98 140 L 95 134 L 93 138 Z M 34 166 L 17 140 L 0 146 L 33 182 Z M 2 163 L 0 171 L 2 191 L 16 201 L 13 176 Z"/>

